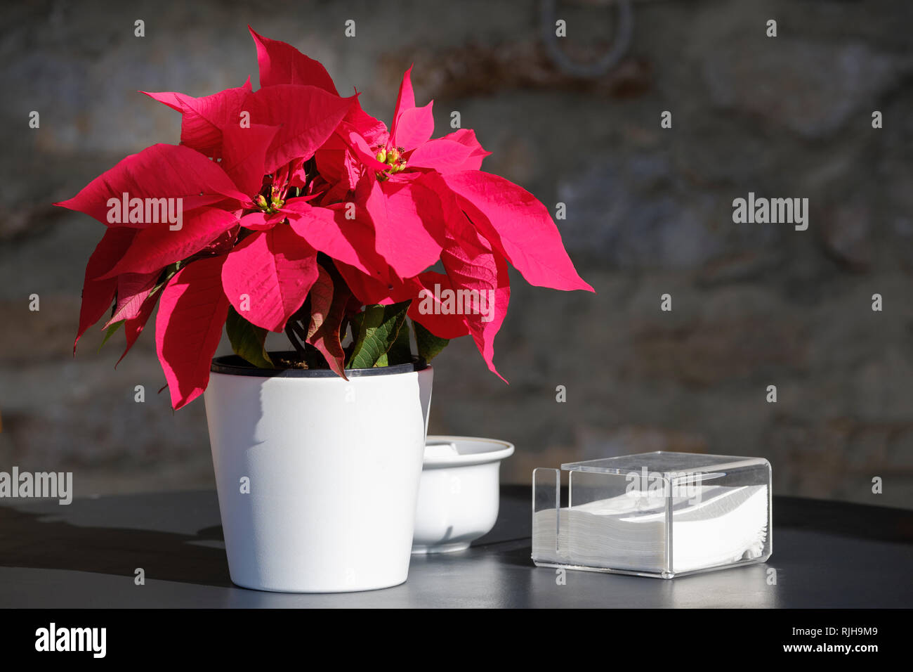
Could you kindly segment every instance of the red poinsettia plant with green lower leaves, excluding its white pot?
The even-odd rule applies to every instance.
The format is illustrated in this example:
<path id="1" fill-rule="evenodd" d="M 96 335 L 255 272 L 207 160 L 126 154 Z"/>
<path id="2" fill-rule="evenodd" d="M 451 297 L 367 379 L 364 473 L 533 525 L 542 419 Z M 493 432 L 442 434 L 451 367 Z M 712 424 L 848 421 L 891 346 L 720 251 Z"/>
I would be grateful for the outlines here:
<path id="1" fill-rule="evenodd" d="M 540 201 L 479 169 L 489 153 L 473 131 L 431 139 L 411 68 L 388 128 L 319 62 L 250 32 L 258 91 L 248 78 L 202 98 L 147 93 L 181 113 L 181 143 L 130 155 L 56 204 L 108 227 L 77 342 L 110 311 L 105 340 L 122 327 L 126 355 L 157 304 L 177 409 L 206 388 L 223 327 L 261 368 L 345 377 L 411 361 L 413 332 L 425 359 L 470 335 L 497 374 L 508 263 L 531 284 L 593 291 Z M 268 332 L 285 332 L 294 356 L 269 354 Z"/>

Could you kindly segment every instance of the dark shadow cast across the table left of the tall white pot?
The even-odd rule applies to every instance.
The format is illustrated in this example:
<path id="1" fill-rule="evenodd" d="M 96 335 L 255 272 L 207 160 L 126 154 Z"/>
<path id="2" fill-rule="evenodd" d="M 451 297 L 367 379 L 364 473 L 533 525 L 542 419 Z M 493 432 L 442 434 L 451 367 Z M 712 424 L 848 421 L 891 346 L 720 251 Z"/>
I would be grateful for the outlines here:
<path id="1" fill-rule="evenodd" d="M 73 525 L 46 511 L 0 507 L 0 567 L 90 571 L 230 587 L 221 526 L 195 535 Z"/>

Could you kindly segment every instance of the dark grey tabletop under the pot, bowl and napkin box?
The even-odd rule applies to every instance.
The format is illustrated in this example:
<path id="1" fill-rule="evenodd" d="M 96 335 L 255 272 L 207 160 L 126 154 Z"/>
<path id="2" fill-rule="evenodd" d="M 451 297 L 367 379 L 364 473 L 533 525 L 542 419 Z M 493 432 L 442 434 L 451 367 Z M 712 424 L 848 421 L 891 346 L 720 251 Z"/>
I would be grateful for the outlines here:
<path id="1" fill-rule="evenodd" d="M 305 595 L 231 583 L 215 492 L 0 504 L 0 607 L 913 606 L 913 511 L 901 509 L 775 497 L 766 565 L 672 581 L 568 571 L 561 585 L 530 560 L 530 489 L 509 486 L 473 548 L 414 557 L 394 588 Z"/>

